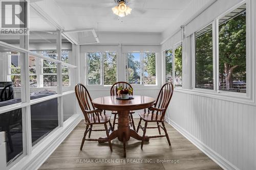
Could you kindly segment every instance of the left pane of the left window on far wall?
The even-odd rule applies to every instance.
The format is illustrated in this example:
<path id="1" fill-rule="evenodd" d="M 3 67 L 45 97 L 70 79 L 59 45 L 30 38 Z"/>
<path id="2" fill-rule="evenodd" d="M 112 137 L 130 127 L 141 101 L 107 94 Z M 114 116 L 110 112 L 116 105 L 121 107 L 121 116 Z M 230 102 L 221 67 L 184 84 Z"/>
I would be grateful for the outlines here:
<path id="1" fill-rule="evenodd" d="M 88 67 L 88 84 L 99 85 L 101 84 L 101 54 L 88 53 L 87 54 L 87 67 Z"/>

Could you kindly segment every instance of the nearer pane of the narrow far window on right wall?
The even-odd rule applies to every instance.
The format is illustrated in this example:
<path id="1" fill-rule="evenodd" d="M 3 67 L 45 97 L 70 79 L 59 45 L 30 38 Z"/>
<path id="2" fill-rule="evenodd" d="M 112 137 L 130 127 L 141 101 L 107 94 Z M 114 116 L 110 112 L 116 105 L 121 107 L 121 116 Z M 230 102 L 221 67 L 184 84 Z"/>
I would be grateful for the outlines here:
<path id="1" fill-rule="evenodd" d="M 182 44 L 175 48 L 174 53 L 174 84 L 175 86 L 182 86 Z"/>

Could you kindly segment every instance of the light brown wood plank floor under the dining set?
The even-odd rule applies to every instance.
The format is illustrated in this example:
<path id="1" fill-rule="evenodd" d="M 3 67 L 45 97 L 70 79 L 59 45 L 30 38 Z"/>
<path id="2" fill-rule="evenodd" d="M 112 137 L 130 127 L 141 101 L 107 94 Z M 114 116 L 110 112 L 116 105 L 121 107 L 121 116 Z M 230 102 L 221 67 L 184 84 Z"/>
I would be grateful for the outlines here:
<path id="1" fill-rule="evenodd" d="M 139 119 L 136 118 L 135 124 L 138 125 L 138 122 Z M 126 159 L 122 157 L 123 145 L 118 139 L 112 140 L 113 152 L 110 151 L 108 142 L 97 141 L 86 141 L 80 151 L 85 127 L 80 122 L 39 169 L 222 169 L 167 123 L 172 146 L 168 145 L 165 137 L 153 138 L 145 142 L 141 150 L 140 141 L 131 138 L 126 144 Z M 95 128 L 104 127 L 99 125 Z M 161 132 L 164 133 L 163 130 Z M 142 135 L 141 130 L 139 134 Z M 147 129 L 146 135 L 157 134 L 157 129 Z M 92 132 L 91 138 L 99 136 L 105 136 L 105 132 Z"/>

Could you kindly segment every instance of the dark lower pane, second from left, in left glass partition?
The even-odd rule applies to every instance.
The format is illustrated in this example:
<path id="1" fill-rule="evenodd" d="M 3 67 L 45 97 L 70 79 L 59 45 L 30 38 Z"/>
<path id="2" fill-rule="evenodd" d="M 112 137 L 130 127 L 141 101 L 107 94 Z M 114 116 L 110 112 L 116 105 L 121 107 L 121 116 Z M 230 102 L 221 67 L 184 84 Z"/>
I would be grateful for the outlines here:
<path id="1" fill-rule="evenodd" d="M 40 93 L 34 94 L 40 98 Z M 31 135 L 32 145 L 44 138 L 58 127 L 57 98 L 31 105 Z"/>

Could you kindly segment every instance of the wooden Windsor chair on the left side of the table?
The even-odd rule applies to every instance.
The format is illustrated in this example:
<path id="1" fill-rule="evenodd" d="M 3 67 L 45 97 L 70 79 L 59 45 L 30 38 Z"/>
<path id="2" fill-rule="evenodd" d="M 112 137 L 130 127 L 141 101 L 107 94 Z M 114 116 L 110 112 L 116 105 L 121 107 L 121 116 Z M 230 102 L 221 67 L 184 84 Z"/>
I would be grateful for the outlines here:
<path id="1" fill-rule="evenodd" d="M 87 90 L 87 88 L 82 85 L 82 84 L 77 84 L 75 86 L 75 93 L 76 93 L 76 98 L 79 103 L 79 106 L 83 112 L 84 115 L 84 124 L 86 124 L 86 131 L 84 131 L 83 138 L 82 138 L 82 143 L 80 150 L 82 150 L 83 144 L 85 140 L 88 141 L 98 141 L 98 139 L 91 139 L 91 133 L 92 131 L 106 131 L 106 136 L 109 139 L 109 132 L 112 129 L 112 125 L 110 122 L 111 115 L 106 115 L 102 113 L 102 110 L 97 109 L 94 107 L 92 104 L 92 99 L 91 96 Z M 108 129 L 107 124 L 109 123 L 110 128 Z M 92 129 L 93 125 L 99 125 L 103 124 L 105 129 Z M 89 128 L 90 126 L 90 128 Z M 86 139 L 86 135 L 89 132 L 89 139 Z M 112 144 L 111 140 L 108 140 L 110 150 L 112 152 Z"/>

